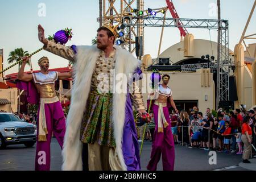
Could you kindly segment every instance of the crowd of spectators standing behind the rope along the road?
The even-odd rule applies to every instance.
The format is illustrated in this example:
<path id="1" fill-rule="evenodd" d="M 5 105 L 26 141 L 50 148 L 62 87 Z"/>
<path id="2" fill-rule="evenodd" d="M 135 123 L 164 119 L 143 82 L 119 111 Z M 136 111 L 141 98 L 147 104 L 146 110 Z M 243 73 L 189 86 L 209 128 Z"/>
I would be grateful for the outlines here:
<path id="1" fill-rule="evenodd" d="M 203 114 L 195 106 L 188 112 L 181 110 L 179 114 L 170 114 L 175 144 L 242 155 L 243 162 L 249 163 L 250 155 L 256 157 L 254 148 L 251 148 L 251 144 L 256 146 L 255 112 L 256 107 L 249 111 L 244 108 L 224 111 L 220 108 L 214 113 L 207 108 Z M 137 120 L 138 138 L 142 142 L 145 123 L 139 118 Z M 145 139 L 151 141 L 154 138 L 152 123 L 154 117 L 151 117 L 145 135 Z"/>

